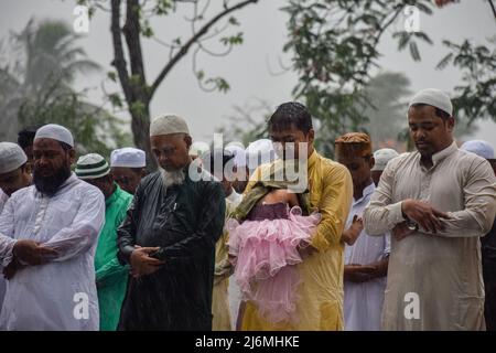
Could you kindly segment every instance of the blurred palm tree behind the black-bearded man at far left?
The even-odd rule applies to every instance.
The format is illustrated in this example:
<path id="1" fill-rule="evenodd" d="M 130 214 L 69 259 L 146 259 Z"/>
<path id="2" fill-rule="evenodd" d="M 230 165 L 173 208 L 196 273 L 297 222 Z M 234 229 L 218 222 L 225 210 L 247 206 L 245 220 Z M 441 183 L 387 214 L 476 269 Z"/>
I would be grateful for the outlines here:
<path id="1" fill-rule="evenodd" d="M 30 20 L 21 33 L 12 33 L 3 47 L 10 57 L 0 67 L 0 140 L 15 141 L 24 126 L 61 124 L 75 136 L 78 152 L 99 152 L 128 143 L 123 121 L 103 107 L 85 101 L 75 92 L 78 73 L 96 73 L 99 66 L 77 46 L 78 36 L 63 21 Z M 3 43 L 6 43 L 4 41 Z"/>

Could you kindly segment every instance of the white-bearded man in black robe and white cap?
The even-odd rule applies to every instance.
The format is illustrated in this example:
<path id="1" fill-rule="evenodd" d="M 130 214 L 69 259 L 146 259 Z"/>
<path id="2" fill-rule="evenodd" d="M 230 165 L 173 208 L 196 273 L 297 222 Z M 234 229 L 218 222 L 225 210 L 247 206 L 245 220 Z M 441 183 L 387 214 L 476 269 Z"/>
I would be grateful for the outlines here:
<path id="1" fill-rule="evenodd" d="M 192 138 L 174 115 L 150 125 L 159 171 L 137 189 L 118 229 L 118 258 L 131 266 L 119 330 L 212 330 L 215 244 L 225 195 L 212 175 L 191 178 Z M 196 175 L 197 176 L 197 175 Z"/>

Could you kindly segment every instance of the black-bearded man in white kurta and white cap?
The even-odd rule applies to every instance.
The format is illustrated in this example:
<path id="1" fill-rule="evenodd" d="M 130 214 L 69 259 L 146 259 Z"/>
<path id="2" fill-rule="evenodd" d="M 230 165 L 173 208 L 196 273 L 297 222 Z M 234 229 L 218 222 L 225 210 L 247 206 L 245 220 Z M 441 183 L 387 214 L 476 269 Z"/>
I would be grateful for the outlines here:
<path id="1" fill-rule="evenodd" d="M 34 185 L 13 193 L 0 215 L 0 237 L 13 245 L 2 258 L 9 282 L 0 328 L 98 330 L 94 256 L 104 195 L 71 172 L 74 139 L 66 128 L 40 128 L 33 156 Z M 28 249 L 15 249 L 25 243 Z"/>

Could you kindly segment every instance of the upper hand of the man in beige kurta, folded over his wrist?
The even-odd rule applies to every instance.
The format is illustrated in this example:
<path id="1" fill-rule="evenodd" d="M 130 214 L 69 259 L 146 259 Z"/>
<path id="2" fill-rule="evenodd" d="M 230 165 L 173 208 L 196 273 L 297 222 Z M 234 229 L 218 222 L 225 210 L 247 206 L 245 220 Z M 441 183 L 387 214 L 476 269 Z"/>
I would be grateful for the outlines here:
<path id="1" fill-rule="evenodd" d="M 401 212 L 411 221 L 417 222 L 420 227 L 431 233 L 444 231 L 445 227 L 440 218 L 450 218 L 446 213 L 435 210 L 429 203 L 411 199 L 401 203 Z"/>

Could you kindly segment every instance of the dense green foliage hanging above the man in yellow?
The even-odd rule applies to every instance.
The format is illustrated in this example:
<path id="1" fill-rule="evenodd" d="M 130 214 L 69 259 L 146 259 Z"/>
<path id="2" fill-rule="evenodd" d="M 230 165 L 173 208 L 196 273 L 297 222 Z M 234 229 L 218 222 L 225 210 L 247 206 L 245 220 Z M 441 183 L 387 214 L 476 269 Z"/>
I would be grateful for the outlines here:
<path id="1" fill-rule="evenodd" d="M 380 56 L 378 43 L 386 30 L 414 4 L 429 13 L 430 1 L 331 1 L 290 0 L 289 41 L 299 83 L 293 94 L 305 101 L 319 121 L 317 148 L 332 154 L 334 139 L 349 130 L 364 130 L 368 121 L 364 90 Z M 409 46 L 414 60 L 420 54 L 414 40 L 430 42 L 425 33 L 397 32 L 400 49 Z"/>

